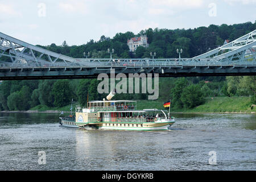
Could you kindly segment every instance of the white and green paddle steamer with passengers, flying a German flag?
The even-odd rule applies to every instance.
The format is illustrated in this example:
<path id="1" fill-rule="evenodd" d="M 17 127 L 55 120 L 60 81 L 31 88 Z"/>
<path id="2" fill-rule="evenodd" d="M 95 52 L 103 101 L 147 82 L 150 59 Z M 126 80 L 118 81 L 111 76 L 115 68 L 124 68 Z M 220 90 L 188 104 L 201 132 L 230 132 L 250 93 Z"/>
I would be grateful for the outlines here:
<path id="1" fill-rule="evenodd" d="M 76 106 L 75 116 L 60 119 L 62 126 L 110 130 L 168 130 L 175 123 L 166 111 L 137 110 L 137 101 L 131 100 L 89 101 L 86 108 Z"/>

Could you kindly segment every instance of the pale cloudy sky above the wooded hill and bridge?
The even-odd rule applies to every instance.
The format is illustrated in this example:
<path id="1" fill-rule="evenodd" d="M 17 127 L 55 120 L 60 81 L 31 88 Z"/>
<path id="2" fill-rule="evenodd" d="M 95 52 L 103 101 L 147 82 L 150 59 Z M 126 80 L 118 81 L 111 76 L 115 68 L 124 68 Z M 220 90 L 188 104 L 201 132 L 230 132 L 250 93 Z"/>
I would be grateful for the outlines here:
<path id="1" fill-rule="evenodd" d="M 256 20 L 256 0 L 0 0 L 0 32 L 42 46 Z"/>

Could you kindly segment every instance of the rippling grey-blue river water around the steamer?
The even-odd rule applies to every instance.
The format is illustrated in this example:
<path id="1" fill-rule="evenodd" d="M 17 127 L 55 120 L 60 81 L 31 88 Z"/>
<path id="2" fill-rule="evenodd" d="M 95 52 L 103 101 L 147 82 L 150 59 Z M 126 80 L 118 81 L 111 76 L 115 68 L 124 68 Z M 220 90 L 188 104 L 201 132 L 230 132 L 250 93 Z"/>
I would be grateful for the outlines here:
<path id="1" fill-rule="evenodd" d="M 0 113 L 0 170 L 256 169 L 256 114 L 173 115 L 170 131 L 116 131 L 59 126 L 59 114 Z"/>

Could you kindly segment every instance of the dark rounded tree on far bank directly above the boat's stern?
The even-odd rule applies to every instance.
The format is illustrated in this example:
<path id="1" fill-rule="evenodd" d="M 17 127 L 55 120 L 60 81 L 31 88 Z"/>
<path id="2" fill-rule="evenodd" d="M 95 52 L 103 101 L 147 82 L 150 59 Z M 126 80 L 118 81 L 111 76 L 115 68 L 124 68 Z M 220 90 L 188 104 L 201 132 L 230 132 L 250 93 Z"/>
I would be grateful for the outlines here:
<path id="1" fill-rule="evenodd" d="M 53 84 L 53 104 L 57 107 L 66 106 L 71 102 L 72 90 L 68 80 L 58 80 Z"/>

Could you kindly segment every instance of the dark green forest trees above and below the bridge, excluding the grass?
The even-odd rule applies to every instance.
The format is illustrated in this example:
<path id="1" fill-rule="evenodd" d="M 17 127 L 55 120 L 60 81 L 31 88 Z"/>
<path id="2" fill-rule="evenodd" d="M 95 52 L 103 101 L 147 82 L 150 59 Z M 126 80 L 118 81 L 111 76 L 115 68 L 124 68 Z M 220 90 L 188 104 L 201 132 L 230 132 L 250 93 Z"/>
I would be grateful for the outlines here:
<path id="1" fill-rule="evenodd" d="M 81 46 L 61 46 L 51 44 L 40 46 L 51 51 L 71 57 L 109 57 L 107 49 L 114 48 L 114 58 L 150 57 L 156 52 L 155 58 L 177 57 L 176 49 L 182 48 L 181 57 L 193 57 L 221 46 L 224 40 L 239 38 L 256 29 L 256 22 L 221 26 L 210 25 L 194 29 L 158 29 L 148 28 L 135 35 L 133 32 L 118 33 L 113 38 L 104 35 L 100 40 L 90 40 Z M 134 36 L 147 35 L 148 48 L 138 47 L 135 55 L 129 52 L 127 39 Z M 85 105 L 89 100 L 102 100 L 106 94 L 97 92 L 97 79 L 84 80 L 23 80 L 3 81 L 0 84 L 0 110 L 28 110 L 37 105 L 61 107 L 74 102 Z M 193 108 L 205 102 L 207 97 L 217 96 L 250 96 L 251 104 L 256 104 L 256 77 L 186 77 L 159 78 L 159 100 L 171 99 L 174 108 Z M 145 100 L 147 94 L 118 94 L 117 99 Z"/>

